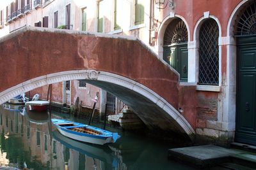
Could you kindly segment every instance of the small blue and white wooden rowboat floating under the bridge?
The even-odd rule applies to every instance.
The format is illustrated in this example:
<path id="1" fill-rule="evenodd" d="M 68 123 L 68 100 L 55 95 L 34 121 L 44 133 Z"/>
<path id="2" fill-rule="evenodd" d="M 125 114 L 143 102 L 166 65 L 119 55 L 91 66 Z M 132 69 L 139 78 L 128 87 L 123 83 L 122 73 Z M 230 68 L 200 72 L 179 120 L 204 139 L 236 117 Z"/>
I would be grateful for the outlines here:
<path id="1" fill-rule="evenodd" d="M 68 120 L 52 118 L 52 124 L 56 126 L 63 136 L 77 141 L 104 145 L 105 143 L 115 143 L 120 138 L 117 133 Z"/>

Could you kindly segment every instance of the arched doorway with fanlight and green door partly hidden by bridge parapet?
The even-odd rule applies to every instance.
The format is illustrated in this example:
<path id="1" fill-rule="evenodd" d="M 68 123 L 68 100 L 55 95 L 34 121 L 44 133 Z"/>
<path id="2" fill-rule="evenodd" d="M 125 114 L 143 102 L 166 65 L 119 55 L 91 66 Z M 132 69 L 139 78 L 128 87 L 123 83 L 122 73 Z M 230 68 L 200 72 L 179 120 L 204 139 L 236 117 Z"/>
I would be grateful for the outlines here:
<path id="1" fill-rule="evenodd" d="M 188 81 L 188 30 L 175 18 L 164 32 L 163 59 L 180 73 L 180 81 Z"/>

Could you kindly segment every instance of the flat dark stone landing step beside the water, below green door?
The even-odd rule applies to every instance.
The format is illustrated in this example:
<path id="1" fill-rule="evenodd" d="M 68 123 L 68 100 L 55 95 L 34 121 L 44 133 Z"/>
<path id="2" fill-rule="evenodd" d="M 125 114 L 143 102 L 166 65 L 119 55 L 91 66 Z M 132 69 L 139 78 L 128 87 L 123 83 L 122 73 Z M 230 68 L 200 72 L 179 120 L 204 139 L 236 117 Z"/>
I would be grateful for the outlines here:
<path id="1" fill-rule="evenodd" d="M 173 148 L 168 150 L 168 158 L 200 168 L 231 162 L 256 169 L 255 153 L 214 145 Z"/>

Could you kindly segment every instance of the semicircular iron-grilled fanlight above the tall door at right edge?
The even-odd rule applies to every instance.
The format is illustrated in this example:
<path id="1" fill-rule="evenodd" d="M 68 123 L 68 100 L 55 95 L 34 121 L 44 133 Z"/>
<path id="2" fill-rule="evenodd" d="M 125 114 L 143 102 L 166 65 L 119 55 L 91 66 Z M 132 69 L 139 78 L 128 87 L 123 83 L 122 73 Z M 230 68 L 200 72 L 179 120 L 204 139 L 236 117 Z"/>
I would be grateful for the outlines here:
<path id="1" fill-rule="evenodd" d="M 247 8 L 241 11 L 236 20 L 237 36 L 256 34 L 256 3 L 248 4 Z"/>

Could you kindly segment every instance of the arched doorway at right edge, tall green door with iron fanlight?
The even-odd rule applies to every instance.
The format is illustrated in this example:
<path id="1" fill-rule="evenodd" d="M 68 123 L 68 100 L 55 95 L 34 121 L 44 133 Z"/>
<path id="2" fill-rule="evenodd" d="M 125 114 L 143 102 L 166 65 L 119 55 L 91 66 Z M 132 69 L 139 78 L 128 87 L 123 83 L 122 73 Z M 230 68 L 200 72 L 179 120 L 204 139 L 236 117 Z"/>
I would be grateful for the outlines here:
<path id="1" fill-rule="evenodd" d="M 248 3 L 236 19 L 237 97 L 236 135 L 256 145 L 256 3 Z"/>

